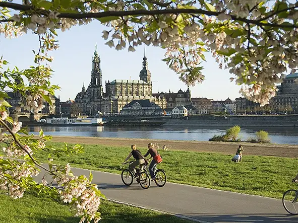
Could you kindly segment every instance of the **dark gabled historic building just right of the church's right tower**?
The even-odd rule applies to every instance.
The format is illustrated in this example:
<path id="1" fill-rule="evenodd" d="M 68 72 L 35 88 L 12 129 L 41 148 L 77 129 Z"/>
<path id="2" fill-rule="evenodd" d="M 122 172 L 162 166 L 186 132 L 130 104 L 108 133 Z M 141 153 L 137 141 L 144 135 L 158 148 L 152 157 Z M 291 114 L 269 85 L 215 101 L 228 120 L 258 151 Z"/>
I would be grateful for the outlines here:
<path id="1" fill-rule="evenodd" d="M 165 99 L 163 108 L 174 108 L 176 106 L 185 106 L 191 105 L 191 91 L 190 88 L 187 88 L 187 91 L 182 91 L 181 89 L 177 93 L 155 93 L 152 94 L 157 99 Z"/>

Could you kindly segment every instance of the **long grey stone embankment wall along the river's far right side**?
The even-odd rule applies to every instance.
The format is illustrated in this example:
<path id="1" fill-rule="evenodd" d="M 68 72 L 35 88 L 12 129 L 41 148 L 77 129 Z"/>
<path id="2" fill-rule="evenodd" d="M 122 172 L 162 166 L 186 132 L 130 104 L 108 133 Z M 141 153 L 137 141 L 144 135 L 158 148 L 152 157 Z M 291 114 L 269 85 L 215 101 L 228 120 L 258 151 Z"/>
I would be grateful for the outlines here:
<path id="1" fill-rule="evenodd" d="M 189 116 L 168 119 L 163 126 L 184 127 L 298 127 L 298 115 Z"/>

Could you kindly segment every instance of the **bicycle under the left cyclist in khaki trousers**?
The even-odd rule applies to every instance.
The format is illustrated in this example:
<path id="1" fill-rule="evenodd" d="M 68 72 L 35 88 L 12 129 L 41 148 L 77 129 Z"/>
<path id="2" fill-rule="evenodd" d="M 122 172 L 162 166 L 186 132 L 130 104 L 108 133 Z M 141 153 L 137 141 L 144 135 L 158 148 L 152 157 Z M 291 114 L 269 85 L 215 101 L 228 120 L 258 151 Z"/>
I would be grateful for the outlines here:
<path id="1" fill-rule="evenodd" d="M 132 164 L 133 161 L 128 162 L 126 164 Z M 121 173 L 121 179 L 122 182 L 126 186 L 132 185 L 134 178 L 136 177 L 137 183 L 141 185 L 143 189 L 148 189 L 150 187 L 150 177 L 149 174 L 146 171 L 141 171 L 138 168 L 136 169 L 136 175 L 130 170 L 129 166 L 128 168 L 124 169 Z"/>

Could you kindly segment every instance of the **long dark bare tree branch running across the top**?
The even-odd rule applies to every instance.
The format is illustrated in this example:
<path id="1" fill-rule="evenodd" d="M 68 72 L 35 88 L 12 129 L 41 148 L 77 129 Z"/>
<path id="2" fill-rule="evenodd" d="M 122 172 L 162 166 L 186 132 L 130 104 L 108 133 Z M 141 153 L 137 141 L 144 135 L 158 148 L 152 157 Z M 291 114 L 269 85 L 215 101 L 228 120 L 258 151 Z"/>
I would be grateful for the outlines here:
<path id="1" fill-rule="evenodd" d="M 14 10 L 20 11 L 32 11 L 37 10 L 41 15 L 47 16 L 49 11 L 35 9 L 33 6 L 24 6 L 9 2 L 0 2 L 0 7 L 7 7 Z M 283 12 L 286 10 L 281 10 Z M 135 11 L 108 11 L 100 13 L 60 13 L 57 15 L 58 18 L 68 19 L 86 19 L 86 18 L 104 18 L 104 17 L 122 17 L 122 16 L 144 16 L 144 15 L 164 15 L 164 14 L 204 14 L 207 16 L 218 16 L 222 12 L 211 12 L 202 9 L 164 9 L 164 10 L 135 10 Z M 282 25 L 276 23 L 261 23 L 260 21 L 240 18 L 234 15 L 230 15 L 232 20 L 242 21 L 245 23 L 255 24 L 257 26 L 268 26 L 276 28 L 298 28 L 297 25 Z M 1 22 L 1 21 L 0 21 Z"/>

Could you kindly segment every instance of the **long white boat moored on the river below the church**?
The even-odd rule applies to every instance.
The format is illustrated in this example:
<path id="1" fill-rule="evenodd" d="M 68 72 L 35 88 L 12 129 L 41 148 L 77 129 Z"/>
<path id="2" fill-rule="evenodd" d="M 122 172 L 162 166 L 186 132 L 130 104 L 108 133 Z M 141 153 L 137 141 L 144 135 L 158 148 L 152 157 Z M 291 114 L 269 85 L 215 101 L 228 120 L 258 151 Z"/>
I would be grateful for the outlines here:
<path id="1" fill-rule="evenodd" d="M 103 125 L 101 118 L 48 118 L 45 125 Z"/>

